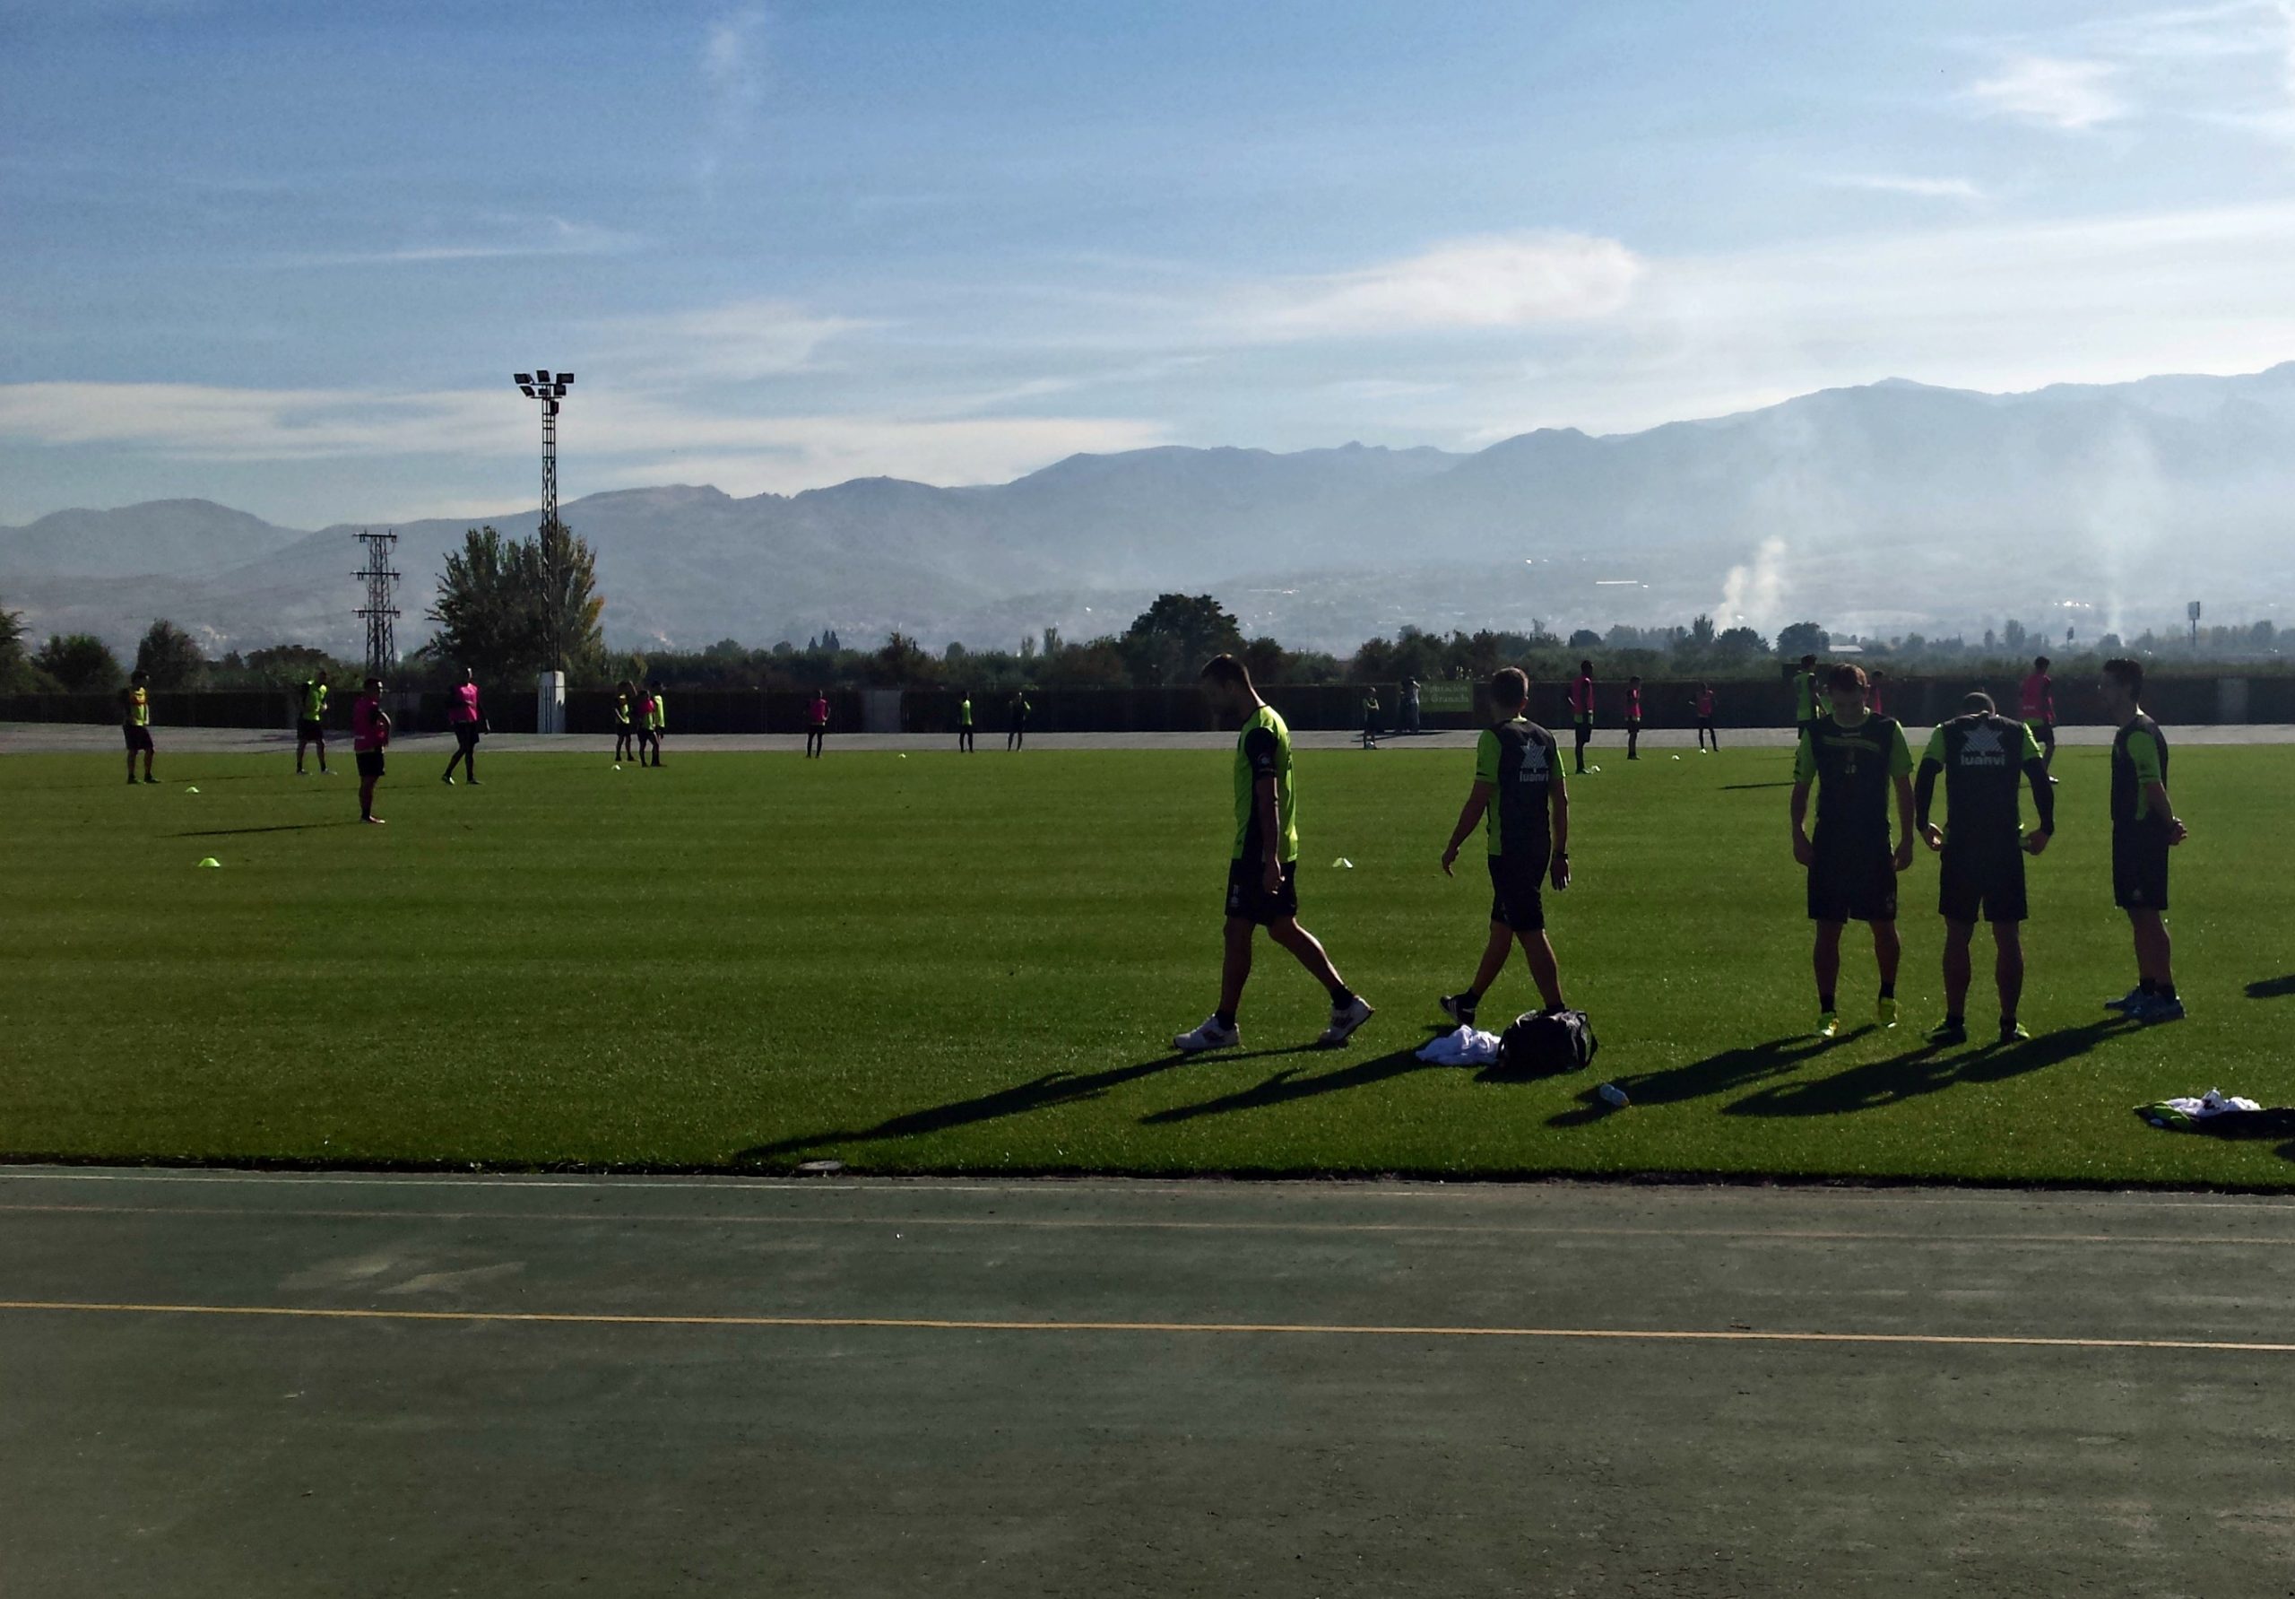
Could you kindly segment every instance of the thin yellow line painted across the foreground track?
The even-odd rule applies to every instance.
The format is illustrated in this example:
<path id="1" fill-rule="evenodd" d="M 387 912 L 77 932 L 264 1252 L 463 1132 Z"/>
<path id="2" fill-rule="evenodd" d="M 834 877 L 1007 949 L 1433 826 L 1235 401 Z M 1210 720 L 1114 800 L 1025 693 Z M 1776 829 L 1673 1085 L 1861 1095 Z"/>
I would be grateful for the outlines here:
<path id="1" fill-rule="evenodd" d="M 278 1316 L 289 1321 L 477 1321 L 601 1328 L 881 1328 L 900 1332 L 1255 1332 L 1292 1337 L 1522 1337 L 1673 1344 L 1898 1344 L 1969 1349 L 2189 1349 L 2238 1355 L 2295 1355 L 2295 1344 L 2242 1344 L 2183 1337 L 2026 1337 L 1992 1332 L 1758 1332 L 1751 1328 L 1384 1328 L 1313 1321 L 971 1321 L 950 1316 L 636 1316 L 567 1310 L 367 1310 L 319 1305 L 133 1305 L 101 1300 L 0 1300 L 0 1312 L 106 1316 Z"/>

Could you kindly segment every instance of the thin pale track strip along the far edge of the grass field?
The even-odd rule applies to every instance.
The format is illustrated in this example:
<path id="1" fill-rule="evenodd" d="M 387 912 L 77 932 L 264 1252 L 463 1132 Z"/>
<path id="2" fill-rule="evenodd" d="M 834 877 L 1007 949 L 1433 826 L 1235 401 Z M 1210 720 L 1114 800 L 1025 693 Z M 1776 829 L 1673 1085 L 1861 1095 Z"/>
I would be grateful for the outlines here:
<path id="1" fill-rule="evenodd" d="M 1567 733 L 1567 728 L 1563 728 Z M 1928 728 L 1905 728 L 1907 737 L 1919 744 Z M 2075 747 L 2102 747 L 2111 742 L 2116 728 L 2107 726 L 2059 726 L 2056 740 L 2061 744 Z M 223 756 L 223 754 L 294 754 L 291 731 L 264 731 L 264 728 L 151 728 L 151 737 L 158 744 L 161 758 L 170 751 L 186 756 Z M 1382 751 L 1409 751 L 1409 749 L 1473 749 L 1480 737 L 1478 728 L 1444 731 L 1444 733 L 1411 733 L 1391 735 L 1379 742 Z M 1792 749 L 1799 740 L 1795 728 L 1721 728 L 1721 737 L 1728 749 Z M 2288 724 L 2224 724 L 2224 726 L 2176 726 L 2171 728 L 2176 744 L 2295 744 L 2295 726 Z M 1333 733 L 1333 731 L 1299 731 L 1292 735 L 1299 749 L 1354 749 L 1363 742 L 1361 733 Z M 1650 728 L 1641 735 L 1641 742 L 1650 749 L 1678 751 L 1696 749 L 1698 735 L 1694 728 Z M 349 749 L 349 733 L 328 731 L 330 749 Z M 454 747 L 448 733 L 399 733 L 390 740 L 395 754 L 422 754 L 438 751 L 445 754 Z M 610 756 L 613 735 L 610 733 L 491 733 L 484 742 L 489 754 L 567 754 L 567 756 Z M 838 751 L 929 751 L 929 749 L 955 749 L 955 733 L 840 733 L 831 731 L 828 754 Z M 980 754 L 1005 754 L 1003 728 L 980 728 L 978 733 Z M 806 749 L 803 733 L 677 733 L 668 735 L 666 754 L 787 754 L 799 756 Z M 1235 733 L 1030 733 L 1028 749 L 1235 749 Z M 1590 744 L 1595 758 L 1625 758 L 1625 731 L 1616 726 L 1600 728 Z M 90 726 L 71 721 L 0 721 L 0 756 L 71 756 L 71 754 L 106 754 L 119 756 L 119 728 L 110 724 Z"/>

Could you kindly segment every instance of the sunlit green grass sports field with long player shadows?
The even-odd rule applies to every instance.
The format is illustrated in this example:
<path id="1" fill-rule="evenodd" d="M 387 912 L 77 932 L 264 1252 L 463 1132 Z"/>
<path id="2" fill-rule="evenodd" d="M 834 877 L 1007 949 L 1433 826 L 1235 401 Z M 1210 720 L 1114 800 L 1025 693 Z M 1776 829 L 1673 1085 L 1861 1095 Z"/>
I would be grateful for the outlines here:
<path id="1" fill-rule="evenodd" d="M 1304 921 L 1377 1020 L 1304 1050 L 1324 995 L 1262 942 L 1244 1050 L 1177 1061 L 1216 997 L 1228 758 L 688 754 L 668 772 L 498 756 L 487 793 L 395 756 L 390 827 L 285 756 L 0 763 L 0 1151 L 69 1158 L 877 1172 L 1841 1174 L 2295 1183 L 2295 1146 L 2146 1128 L 2222 1084 L 2295 1098 L 2295 751 L 2176 754 L 2192 1018 L 2127 988 L 2105 756 L 2059 760 L 2031 868 L 2017 1048 L 1930 1050 L 1935 862 L 1905 880 L 1905 1027 L 1808 1036 L 1783 751 L 1657 754 L 1574 783 L 1551 921 L 1590 1073 L 1414 1059 L 1483 944 L 1487 880 L 1437 855 L 1448 751 L 1299 758 Z M 186 783 L 200 788 L 186 793 Z M 197 868 L 213 855 L 223 871 Z M 1333 857 L 1354 862 L 1352 871 Z M 1870 1015 L 1850 928 L 1843 1013 Z M 2256 997 L 2249 986 L 2258 986 Z M 1533 1004 L 1517 960 L 1485 1025 Z M 1969 1006 L 1990 1032 L 1978 935 Z M 1634 1098 L 1593 1103 L 1600 1080 Z"/>

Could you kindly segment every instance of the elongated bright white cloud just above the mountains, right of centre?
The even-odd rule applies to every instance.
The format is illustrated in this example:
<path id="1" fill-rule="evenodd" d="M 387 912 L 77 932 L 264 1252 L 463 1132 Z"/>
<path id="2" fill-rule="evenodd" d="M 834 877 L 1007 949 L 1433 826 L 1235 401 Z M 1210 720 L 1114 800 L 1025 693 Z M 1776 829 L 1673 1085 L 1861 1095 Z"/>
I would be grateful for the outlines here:
<path id="1" fill-rule="evenodd" d="M 1237 326 L 1269 338 L 1519 329 L 1606 317 L 1641 262 L 1616 239 L 1506 234 L 1457 239 L 1363 271 L 1246 289 Z"/>

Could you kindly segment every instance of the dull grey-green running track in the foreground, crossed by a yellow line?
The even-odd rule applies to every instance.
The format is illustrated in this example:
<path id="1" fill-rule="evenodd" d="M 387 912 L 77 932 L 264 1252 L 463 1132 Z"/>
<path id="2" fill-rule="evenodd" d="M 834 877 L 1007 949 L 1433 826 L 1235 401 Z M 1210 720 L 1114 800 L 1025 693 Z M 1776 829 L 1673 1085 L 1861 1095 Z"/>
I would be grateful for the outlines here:
<path id="1" fill-rule="evenodd" d="M 2295 1202 L 0 1172 L 9 1594 L 2288 1594 Z"/>

